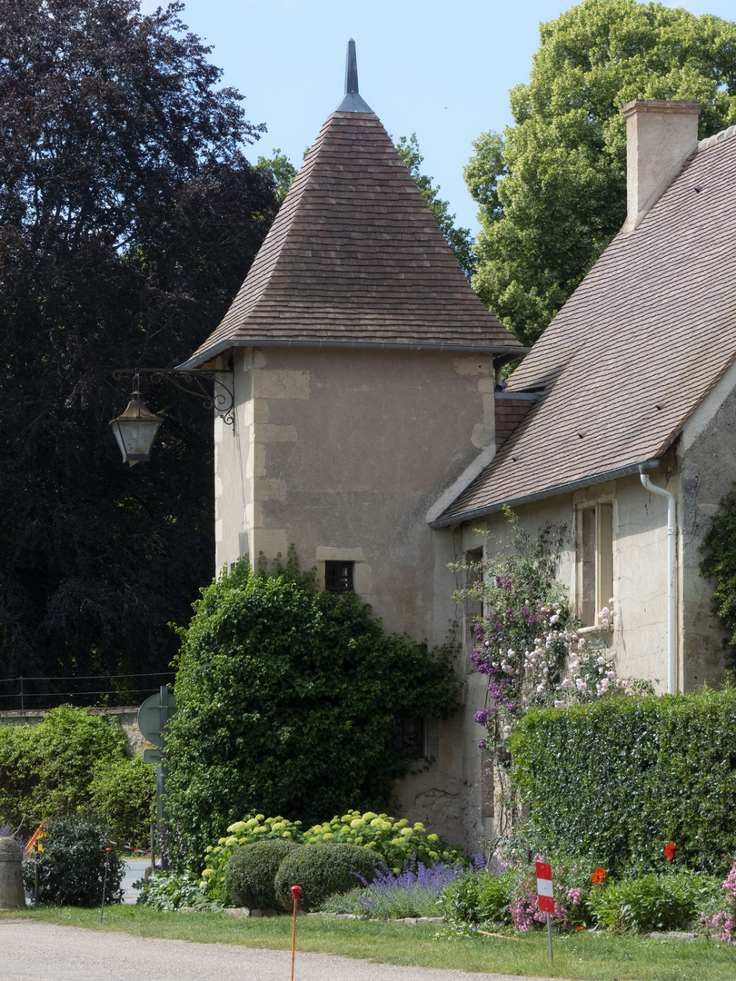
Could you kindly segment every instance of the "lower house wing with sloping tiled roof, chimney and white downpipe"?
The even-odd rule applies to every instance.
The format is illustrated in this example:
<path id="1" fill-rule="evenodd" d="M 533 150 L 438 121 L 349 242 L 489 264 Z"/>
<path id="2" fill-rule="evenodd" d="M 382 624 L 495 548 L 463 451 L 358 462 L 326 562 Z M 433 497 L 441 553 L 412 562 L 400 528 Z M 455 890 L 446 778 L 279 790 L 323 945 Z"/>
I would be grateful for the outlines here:
<path id="1" fill-rule="evenodd" d="M 692 101 L 623 112 L 626 223 L 499 395 L 493 460 L 429 520 L 464 550 L 504 504 L 566 527 L 560 578 L 591 633 L 613 597 L 618 673 L 686 691 L 723 673 L 698 546 L 736 479 L 736 128 L 699 142 Z"/>

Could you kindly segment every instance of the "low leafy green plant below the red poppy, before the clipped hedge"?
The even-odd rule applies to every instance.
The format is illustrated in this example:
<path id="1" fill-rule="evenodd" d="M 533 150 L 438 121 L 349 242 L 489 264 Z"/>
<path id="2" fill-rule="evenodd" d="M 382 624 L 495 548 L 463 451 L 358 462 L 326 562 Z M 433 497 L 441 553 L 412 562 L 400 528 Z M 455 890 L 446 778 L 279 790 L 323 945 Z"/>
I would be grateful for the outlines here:
<path id="1" fill-rule="evenodd" d="M 688 926 L 719 892 L 720 883 L 709 875 L 651 873 L 610 882 L 594 890 L 589 902 L 598 922 L 614 930 L 676 930 Z"/>

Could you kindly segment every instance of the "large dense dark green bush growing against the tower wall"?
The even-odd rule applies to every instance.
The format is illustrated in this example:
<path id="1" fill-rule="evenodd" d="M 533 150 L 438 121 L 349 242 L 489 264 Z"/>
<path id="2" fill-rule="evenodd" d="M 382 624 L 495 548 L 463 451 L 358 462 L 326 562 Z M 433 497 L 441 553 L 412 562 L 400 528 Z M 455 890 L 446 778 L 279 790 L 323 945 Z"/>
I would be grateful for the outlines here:
<path id="1" fill-rule="evenodd" d="M 396 721 L 456 709 L 447 656 L 369 612 L 318 593 L 293 557 L 272 575 L 242 559 L 202 591 L 167 741 L 167 809 L 194 863 L 249 812 L 308 825 L 379 806 L 412 763 Z"/>

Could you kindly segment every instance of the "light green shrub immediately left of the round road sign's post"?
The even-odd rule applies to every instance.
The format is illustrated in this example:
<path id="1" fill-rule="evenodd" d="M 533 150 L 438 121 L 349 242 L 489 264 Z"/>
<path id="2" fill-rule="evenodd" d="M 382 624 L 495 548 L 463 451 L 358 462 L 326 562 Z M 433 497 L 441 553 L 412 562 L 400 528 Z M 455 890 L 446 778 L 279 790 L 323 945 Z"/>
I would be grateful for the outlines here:
<path id="1" fill-rule="evenodd" d="M 115 841 L 145 849 L 156 822 L 156 767 L 141 756 L 102 760 L 92 771 L 87 800 L 84 809 L 104 816 Z"/>

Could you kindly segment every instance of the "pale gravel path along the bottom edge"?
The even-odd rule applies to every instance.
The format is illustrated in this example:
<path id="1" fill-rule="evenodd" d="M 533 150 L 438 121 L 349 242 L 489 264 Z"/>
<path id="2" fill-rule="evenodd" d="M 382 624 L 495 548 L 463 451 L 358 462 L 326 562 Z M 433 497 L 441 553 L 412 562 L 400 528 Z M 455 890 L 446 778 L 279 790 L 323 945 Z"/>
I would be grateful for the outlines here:
<path id="1" fill-rule="evenodd" d="M 288 981 L 291 967 L 289 951 L 148 940 L 32 920 L 0 921 L 0 952 L 0 981 Z M 298 951 L 294 964 L 294 981 L 519 981 Z"/>

